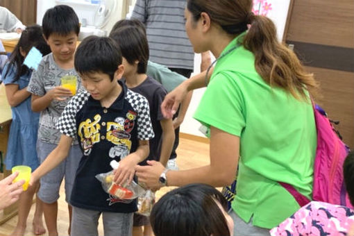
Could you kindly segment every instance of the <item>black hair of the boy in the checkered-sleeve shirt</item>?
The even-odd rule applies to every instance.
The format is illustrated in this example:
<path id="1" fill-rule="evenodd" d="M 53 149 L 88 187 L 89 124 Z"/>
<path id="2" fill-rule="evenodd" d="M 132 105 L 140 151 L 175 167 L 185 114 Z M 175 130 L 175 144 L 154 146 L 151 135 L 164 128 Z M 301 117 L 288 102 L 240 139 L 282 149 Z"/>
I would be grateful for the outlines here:
<path id="1" fill-rule="evenodd" d="M 76 49 L 74 66 L 78 74 L 101 72 L 112 81 L 119 65 L 121 51 L 110 37 L 86 37 Z"/>

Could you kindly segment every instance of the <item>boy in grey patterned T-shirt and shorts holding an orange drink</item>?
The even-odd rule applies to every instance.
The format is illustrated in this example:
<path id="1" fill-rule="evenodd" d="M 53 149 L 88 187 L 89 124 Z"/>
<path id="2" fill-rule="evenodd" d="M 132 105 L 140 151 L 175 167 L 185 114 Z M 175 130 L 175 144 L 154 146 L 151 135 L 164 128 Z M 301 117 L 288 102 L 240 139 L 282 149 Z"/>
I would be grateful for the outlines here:
<path id="1" fill-rule="evenodd" d="M 73 95 L 61 85 L 62 76 L 76 76 L 77 90 L 81 90 L 81 81 L 74 69 L 74 52 L 80 26 L 78 17 L 69 6 L 59 5 L 50 8 L 42 20 L 43 35 L 52 53 L 44 56 L 40 65 L 32 74 L 28 92 L 32 93 L 32 110 L 40 112 L 37 155 L 44 162 L 47 155 L 56 148 L 60 140 L 60 130 L 56 123 Z M 78 141 L 73 140 L 68 158 L 40 180 L 38 197 L 44 202 L 44 218 L 49 236 L 58 235 L 57 215 L 59 189 L 65 176 L 65 200 L 69 202 L 75 171 L 78 167 L 81 150 Z M 71 205 L 68 205 L 71 219 Z M 71 222 L 71 220 L 70 220 Z M 70 232 L 69 222 L 69 232 Z"/>

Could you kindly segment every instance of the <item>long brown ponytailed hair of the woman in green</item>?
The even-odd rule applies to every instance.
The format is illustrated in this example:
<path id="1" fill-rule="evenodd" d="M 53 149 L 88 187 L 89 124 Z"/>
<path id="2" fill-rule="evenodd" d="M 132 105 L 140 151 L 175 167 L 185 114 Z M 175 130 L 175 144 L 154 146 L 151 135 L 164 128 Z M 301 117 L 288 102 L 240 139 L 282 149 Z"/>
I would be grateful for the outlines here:
<path id="1" fill-rule="evenodd" d="M 305 90 L 316 96 L 319 84 L 313 74 L 308 74 L 295 53 L 278 41 L 271 19 L 253 15 L 252 4 L 252 0 L 188 0 L 187 9 L 194 21 L 206 12 L 212 24 L 230 35 L 239 35 L 251 24 L 239 43 L 254 54 L 255 69 L 263 80 L 282 87 L 296 99 L 305 99 Z"/>

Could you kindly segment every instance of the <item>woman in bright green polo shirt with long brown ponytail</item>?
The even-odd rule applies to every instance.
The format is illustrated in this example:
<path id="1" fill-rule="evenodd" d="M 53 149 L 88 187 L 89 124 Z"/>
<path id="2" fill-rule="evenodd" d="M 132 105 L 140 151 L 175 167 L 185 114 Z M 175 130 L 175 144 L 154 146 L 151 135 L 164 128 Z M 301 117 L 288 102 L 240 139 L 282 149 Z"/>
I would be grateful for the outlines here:
<path id="1" fill-rule="evenodd" d="M 194 51 L 210 50 L 218 60 L 210 81 L 185 81 L 166 96 L 162 109 L 171 117 L 187 91 L 208 86 L 194 118 L 210 128 L 210 165 L 164 171 L 151 162 L 137 168 L 139 180 L 153 188 L 159 179 L 221 187 L 233 182 L 238 163 L 230 212 L 235 236 L 269 235 L 300 208 L 278 182 L 311 198 L 317 145 L 309 98 L 317 82 L 278 42 L 273 22 L 251 8 L 252 0 L 187 1 L 185 28 Z"/>

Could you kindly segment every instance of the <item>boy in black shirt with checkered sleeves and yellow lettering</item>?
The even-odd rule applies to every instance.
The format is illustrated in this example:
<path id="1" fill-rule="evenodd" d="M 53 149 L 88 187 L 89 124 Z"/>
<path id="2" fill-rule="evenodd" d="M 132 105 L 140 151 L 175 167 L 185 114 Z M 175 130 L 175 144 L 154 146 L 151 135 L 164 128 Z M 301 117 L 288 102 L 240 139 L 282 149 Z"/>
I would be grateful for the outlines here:
<path id="1" fill-rule="evenodd" d="M 106 193 L 97 174 L 112 170 L 119 161 L 114 180 L 130 182 L 135 166 L 149 155 L 153 137 L 149 102 L 119 81 L 124 74 L 121 53 L 114 40 L 91 36 L 81 42 L 75 54 L 75 68 L 86 91 L 74 96 L 58 121 L 60 142 L 33 172 L 37 180 L 65 160 L 74 137 L 83 153 L 74 178 L 71 236 L 98 235 L 103 215 L 105 236 L 131 235 L 136 200 L 121 201 Z M 76 157 L 77 158 L 77 157 Z"/>

